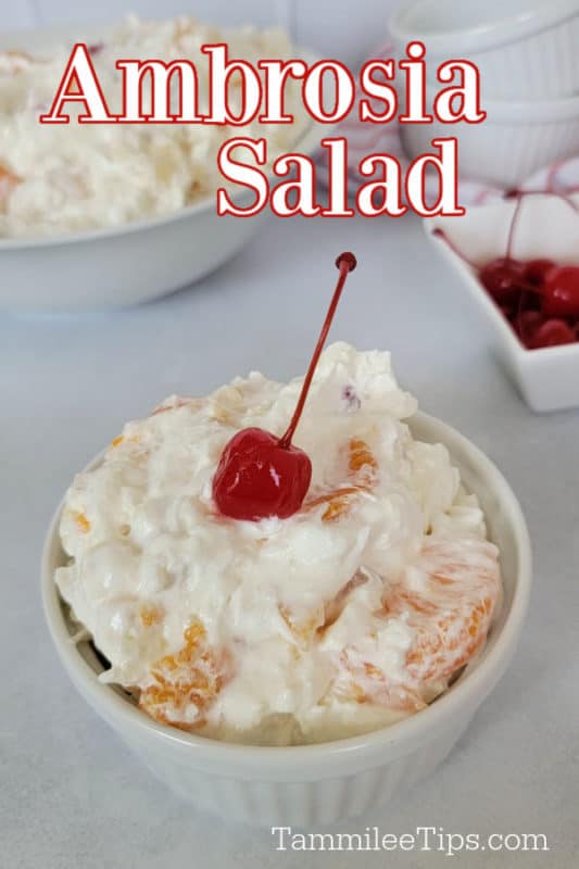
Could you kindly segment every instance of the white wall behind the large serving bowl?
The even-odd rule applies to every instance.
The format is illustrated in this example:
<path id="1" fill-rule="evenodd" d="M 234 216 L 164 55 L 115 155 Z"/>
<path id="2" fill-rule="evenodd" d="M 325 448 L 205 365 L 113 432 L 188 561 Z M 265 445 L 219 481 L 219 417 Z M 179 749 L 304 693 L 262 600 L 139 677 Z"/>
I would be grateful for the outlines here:
<path id="1" fill-rule="evenodd" d="M 211 22 L 284 24 L 295 41 L 351 63 L 383 39 L 397 0 L 0 0 L 0 29 L 187 12 Z"/>

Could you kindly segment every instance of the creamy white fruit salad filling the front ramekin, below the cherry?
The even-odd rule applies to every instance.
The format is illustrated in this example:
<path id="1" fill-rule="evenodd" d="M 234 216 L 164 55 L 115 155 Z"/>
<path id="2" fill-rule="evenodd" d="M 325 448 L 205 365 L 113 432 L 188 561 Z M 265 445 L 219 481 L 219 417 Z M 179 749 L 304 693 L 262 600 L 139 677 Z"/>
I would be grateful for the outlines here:
<path id="1" fill-rule="evenodd" d="M 280 436 L 301 382 L 252 373 L 171 398 L 66 494 L 61 594 L 111 663 L 101 679 L 161 721 L 259 744 L 348 736 L 423 708 L 484 642 L 498 552 L 445 448 L 403 421 L 416 401 L 388 353 L 324 352 L 294 438 L 313 466 L 294 516 L 216 512 L 227 441 Z"/>

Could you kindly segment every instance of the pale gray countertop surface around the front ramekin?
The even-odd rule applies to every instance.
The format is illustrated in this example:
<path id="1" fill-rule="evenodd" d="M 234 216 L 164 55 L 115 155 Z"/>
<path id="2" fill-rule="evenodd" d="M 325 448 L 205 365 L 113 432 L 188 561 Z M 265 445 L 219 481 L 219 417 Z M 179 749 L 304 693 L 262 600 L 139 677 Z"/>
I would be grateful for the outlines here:
<path id="1" fill-rule="evenodd" d="M 579 849 L 579 412 L 531 414 L 489 354 L 478 312 L 415 218 L 270 221 L 199 286 L 115 315 L 0 317 L 2 606 L 0 864 L 25 867 L 438 867 L 442 852 L 276 852 L 268 831 L 196 816 L 75 692 L 43 624 L 38 572 L 76 470 L 172 392 L 251 368 L 303 370 L 356 252 L 332 330 L 389 348 L 424 410 L 456 426 L 518 493 L 536 556 L 530 617 L 507 675 L 437 774 L 342 832 L 543 833 L 549 853 L 463 853 L 451 865 L 567 869 Z M 575 858 L 574 858 L 575 854 Z"/>

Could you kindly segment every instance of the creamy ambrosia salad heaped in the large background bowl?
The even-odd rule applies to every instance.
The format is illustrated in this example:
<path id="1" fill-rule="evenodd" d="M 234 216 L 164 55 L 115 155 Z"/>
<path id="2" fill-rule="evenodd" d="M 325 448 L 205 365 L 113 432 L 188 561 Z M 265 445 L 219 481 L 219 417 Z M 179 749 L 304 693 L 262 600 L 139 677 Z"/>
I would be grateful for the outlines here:
<path id="1" fill-rule="evenodd" d="M 83 34 L 78 34 L 78 39 Z M 293 56 L 281 30 L 219 30 L 190 17 L 141 22 L 129 17 L 102 42 L 89 46 L 111 111 L 119 111 L 119 58 L 192 60 L 200 106 L 207 100 L 207 58 L 202 45 L 227 42 L 230 55 Z M 67 103 L 71 123 L 39 124 L 48 111 L 71 46 L 0 53 L 0 237 L 51 236 L 122 226 L 177 212 L 223 184 L 216 156 L 232 136 L 266 138 L 274 160 L 305 129 L 300 84 L 288 80 L 287 110 L 295 123 L 243 127 L 201 124 L 78 124 L 83 106 Z M 178 81 L 176 81 L 178 84 Z M 173 80 L 172 80 L 173 86 Z M 150 78 L 143 78 L 144 104 Z M 230 89 L 231 109 L 241 93 Z"/>

